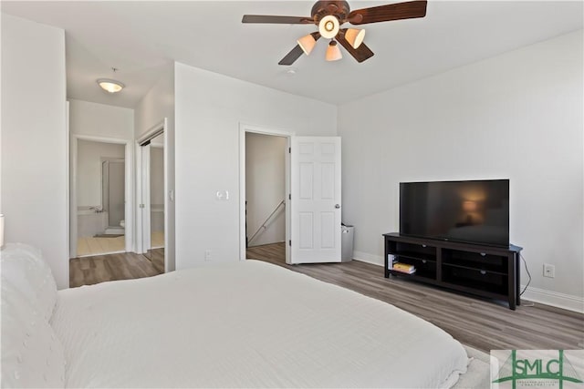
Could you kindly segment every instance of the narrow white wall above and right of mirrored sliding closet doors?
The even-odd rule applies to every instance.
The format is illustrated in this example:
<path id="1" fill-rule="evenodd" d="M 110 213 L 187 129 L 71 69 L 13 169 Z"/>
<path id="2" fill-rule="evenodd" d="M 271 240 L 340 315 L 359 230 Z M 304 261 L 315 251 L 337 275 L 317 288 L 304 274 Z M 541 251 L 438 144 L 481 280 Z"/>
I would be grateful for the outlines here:
<path id="1" fill-rule="evenodd" d="M 151 88 L 135 109 L 134 133 L 136 138 L 140 138 L 149 129 L 156 126 L 164 118 L 167 118 L 167 127 L 164 131 L 167 147 L 165 153 L 165 179 L 167 190 L 174 188 L 174 64 L 169 65 L 162 72 L 160 80 Z M 165 194 L 168 199 L 168 193 Z M 175 269 L 175 202 L 168 200 L 164 202 L 164 224 L 166 234 L 164 236 L 164 269 L 173 271 Z"/>

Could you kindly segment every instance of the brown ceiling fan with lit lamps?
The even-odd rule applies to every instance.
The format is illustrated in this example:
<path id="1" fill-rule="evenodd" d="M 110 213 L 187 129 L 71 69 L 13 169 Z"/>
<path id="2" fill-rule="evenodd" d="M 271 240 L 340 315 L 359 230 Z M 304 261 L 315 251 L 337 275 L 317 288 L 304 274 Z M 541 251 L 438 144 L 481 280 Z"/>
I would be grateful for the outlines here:
<path id="1" fill-rule="evenodd" d="M 337 46 L 339 42 L 357 62 L 363 62 L 373 56 L 370 48 L 363 43 L 365 30 L 340 26 L 345 23 L 359 26 L 423 17 L 426 15 L 426 4 L 426 0 L 416 0 L 350 11 L 349 3 L 346 1 L 318 1 L 313 5 L 310 17 L 244 15 L 242 23 L 318 26 L 318 31 L 299 38 L 297 46 L 284 56 L 278 65 L 292 65 L 302 53 L 308 56 L 320 37 L 330 39 L 326 54 L 328 61 L 336 61 L 342 57 Z"/>

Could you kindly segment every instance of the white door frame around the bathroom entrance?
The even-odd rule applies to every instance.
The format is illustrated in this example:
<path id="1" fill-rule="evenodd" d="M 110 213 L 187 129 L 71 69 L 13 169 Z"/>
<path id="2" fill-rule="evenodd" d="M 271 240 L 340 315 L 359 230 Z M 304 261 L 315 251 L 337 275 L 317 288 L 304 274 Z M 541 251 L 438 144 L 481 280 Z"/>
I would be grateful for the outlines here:
<path id="1" fill-rule="evenodd" d="M 124 145 L 124 166 L 125 166 L 125 206 L 124 220 L 125 227 L 125 251 L 134 251 L 134 165 L 133 149 L 131 140 L 123 138 L 97 137 L 92 135 L 70 134 L 70 166 L 69 166 L 69 258 L 77 257 L 77 240 L 78 240 L 78 217 L 77 217 L 77 182 L 78 182 L 78 141 L 89 140 L 93 142 L 112 143 Z"/>

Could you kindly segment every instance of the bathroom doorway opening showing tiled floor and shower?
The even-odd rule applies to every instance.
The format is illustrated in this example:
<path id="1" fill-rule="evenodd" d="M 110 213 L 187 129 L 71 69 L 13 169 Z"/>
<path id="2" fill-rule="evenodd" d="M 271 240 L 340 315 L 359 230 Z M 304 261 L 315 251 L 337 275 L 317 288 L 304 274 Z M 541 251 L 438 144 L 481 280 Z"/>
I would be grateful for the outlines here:
<path id="1" fill-rule="evenodd" d="M 127 145 L 73 138 L 70 257 L 127 251 Z"/>

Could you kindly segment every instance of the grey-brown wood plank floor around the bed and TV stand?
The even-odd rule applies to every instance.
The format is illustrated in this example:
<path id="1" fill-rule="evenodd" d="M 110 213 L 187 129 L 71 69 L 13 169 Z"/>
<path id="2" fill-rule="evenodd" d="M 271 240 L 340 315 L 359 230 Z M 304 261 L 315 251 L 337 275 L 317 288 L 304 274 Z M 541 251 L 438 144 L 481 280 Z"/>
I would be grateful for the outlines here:
<path id="1" fill-rule="evenodd" d="M 360 261 L 287 265 L 284 243 L 247 250 L 247 258 L 268 261 L 324 282 L 389 302 L 433 322 L 461 343 L 485 353 L 496 349 L 582 349 L 584 314 L 542 304 L 516 311 L 505 304 L 428 287 L 400 278 L 386 279 L 380 266 Z M 141 278 L 162 271 L 142 255 L 124 253 L 69 262 L 70 286 Z M 388 329 L 391 331 L 391 329 Z"/>

